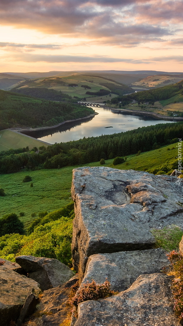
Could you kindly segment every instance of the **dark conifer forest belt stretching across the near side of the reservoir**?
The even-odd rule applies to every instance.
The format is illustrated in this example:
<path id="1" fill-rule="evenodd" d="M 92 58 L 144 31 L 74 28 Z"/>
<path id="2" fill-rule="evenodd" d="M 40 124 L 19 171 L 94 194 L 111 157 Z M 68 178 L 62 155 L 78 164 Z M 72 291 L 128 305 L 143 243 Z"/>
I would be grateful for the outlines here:
<path id="1" fill-rule="evenodd" d="M 61 168 L 97 162 L 101 158 L 146 152 L 178 141 L 183 134 L 183 122 L 158 124 L 112 135 L 83 138 L 78 141 L 41 146 L 24 153 L 1 152 L 0 173 L 17 172 L 26 167 L 32 170 Z M 10 154 L 11 153 L 11 154 Z"/>

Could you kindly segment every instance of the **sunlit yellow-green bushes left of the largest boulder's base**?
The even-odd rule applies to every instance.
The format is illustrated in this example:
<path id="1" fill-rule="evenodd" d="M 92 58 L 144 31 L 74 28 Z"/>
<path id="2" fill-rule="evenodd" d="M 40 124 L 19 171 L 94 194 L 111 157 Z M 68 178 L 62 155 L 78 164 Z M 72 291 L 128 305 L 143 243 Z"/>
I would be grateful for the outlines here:
<path id="1" fill-rule="evenodd" d="M 71 241 L 72 218 L 63 217 L 36 227 L 30 235 L 13 233 L 0 237 L 0 257 L 11 261 L 21 255 L 47 257 L 71 267 Z"/>

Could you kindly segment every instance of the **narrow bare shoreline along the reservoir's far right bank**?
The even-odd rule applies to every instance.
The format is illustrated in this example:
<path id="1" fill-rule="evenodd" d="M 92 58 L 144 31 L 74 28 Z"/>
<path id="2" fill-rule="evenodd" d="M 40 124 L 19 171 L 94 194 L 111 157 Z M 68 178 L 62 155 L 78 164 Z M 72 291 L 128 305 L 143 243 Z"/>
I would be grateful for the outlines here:
<path id="1" fill-rule="evenodd" d="M 147 112 L 147 111 L 137 111 L 137 110 L 128 110 L 128 109 L 120 109 L 120 108 L 112 108 L 112 107 L 107 107 L 105 106 L 104 109 L 109 109 L 113 111 L 119 111 L 119 112 L 126 112 L 126 113 L 131 113 L 131 115 L 142 115 L 142 116 L 152 116 L 153 118 L 156 118 L 158 120 L 170 120 L 170 121 L 183 121 L 183 117 L 169 117 L 169 116 L 164 116 L 162 117 L 161 114 L 155 113 L 155 112 Z"/>

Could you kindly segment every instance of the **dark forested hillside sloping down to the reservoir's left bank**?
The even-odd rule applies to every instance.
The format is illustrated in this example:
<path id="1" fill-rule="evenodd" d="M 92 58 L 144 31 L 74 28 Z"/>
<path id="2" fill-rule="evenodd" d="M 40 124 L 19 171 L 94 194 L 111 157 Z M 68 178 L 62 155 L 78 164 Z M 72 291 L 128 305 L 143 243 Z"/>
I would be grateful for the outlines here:
<path id="1" fill-rule="evenodd" d="M 46 101 L 0 90 L 0 130 L 17 126 L 54 126 L 83 118 L 93 109 L 74 103 Z"/>

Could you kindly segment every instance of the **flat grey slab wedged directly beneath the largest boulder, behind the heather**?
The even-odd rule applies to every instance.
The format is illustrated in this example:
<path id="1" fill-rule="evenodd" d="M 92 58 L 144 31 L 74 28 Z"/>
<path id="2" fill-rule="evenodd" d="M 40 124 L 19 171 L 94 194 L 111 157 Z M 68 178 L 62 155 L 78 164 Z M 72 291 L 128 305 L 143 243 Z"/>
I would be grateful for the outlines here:
<path id="1" fill-rule="evenodd" d="M 121 292 L 128 289 L 139 275 L 160 273 L 167 265 L 166 252 L 161 248 L 92 255 L 88 258 L 81 286 L 92 280 L 101 284 L 107 278 L 111 289 Z"/>

